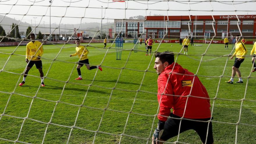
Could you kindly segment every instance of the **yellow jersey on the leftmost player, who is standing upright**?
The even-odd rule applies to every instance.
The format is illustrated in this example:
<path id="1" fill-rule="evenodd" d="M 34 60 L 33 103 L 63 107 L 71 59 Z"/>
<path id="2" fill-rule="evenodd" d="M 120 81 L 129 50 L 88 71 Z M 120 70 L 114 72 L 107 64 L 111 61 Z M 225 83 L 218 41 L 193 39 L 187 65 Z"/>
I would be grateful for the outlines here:
<path id="1" fill-rule="evenodd" d="M 26 59 L 31 61 L 40 61 L 37 56 L 42 56 L 44 49 L 42 43 L 39 41 L 29 42 L 26 46 Z"/>

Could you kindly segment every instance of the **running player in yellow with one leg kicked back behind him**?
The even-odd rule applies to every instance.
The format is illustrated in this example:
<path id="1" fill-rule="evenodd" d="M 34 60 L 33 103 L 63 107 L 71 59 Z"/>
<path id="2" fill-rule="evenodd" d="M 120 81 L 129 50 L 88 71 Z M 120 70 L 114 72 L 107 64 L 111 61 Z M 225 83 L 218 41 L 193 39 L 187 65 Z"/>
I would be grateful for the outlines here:
<path id="1" fill-rule="evenodd" d="M 102 71 L 102 68 L 100 66 L 98 66 L 98 65 L 90 67 L 88 56 L 87 56 L 89 51 L 88 51 L 88 49 L 86 49 L 86 47 L 80 45 L 79 38 L 76 39 L 76 44 L 77 44 L 76 53 L 69 55 L 70 57 L 71 56 L 78 56 L 78 58 L 79 58 L 79 62 L 78 62 L 78 65 L 77 65 L 77 73 L 78 73 L 79 77 L 77 79 L 75 79 L 75 80 L 82 80 L 82 75 L 81 75 L 80 68 L 83 65 L 86 65 L 88 70 L 92 70 L 92 69 L 98 68 L 100 71 Z"/>

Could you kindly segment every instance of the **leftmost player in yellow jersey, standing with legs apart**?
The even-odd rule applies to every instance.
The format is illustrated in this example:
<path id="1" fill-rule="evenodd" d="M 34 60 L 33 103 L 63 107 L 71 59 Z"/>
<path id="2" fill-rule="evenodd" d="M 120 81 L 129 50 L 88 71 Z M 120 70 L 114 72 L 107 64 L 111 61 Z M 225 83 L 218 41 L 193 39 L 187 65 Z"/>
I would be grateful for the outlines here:
<path id="1" fill-rule="evenodd" d="M 40 72 L 41 86 L 45 86 L 43 82 L 44 73 L 42 70 L 42 61 L 41 61 L 41 56 L 44 53 L 44 49 L 41 42 L 35 41 L 34 33 L 30 34 L 30 39 L 31 39 L 31 42 L 29 42 L 26 46 L 26 63 L 28 64 L 24 72 L 23 81 L 19 84 L 19 86 L 24 85 L 27 74 L 34 64 Z"/>

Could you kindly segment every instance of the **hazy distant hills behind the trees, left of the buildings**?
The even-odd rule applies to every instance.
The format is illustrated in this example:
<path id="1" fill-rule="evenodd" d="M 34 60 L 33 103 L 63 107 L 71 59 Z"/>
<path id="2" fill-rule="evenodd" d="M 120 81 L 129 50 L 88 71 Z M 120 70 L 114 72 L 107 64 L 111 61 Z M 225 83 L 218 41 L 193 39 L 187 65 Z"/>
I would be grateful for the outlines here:
<path id="1" fill-rule="evenodd" d="M 0 15 L 0 20 L 2 20 L 2 18 L 4 17 L 4 15 Z M 19 24 L 19 32 L 24 31 L 26 33 L 26 29 L 28 28 L 28 26 L 31 26 L 31 24 L 27 23 L 27 22 L 20 22 L 20 20 L 15 20 L 13 18 L 7 17 L 5 16 L 4 19 L 0 22 L 0 25 L 3 27 L 3 29 L 5 30 L 6 34 L 10 31 L 11 29 L 11 25 L 14 23 Z M 20 23 L 19 23 L 20 22 Z M 45 25 L 45 27 L 44 27 Z M 55 27 L 58 26 L 58 24 L 52 23 L 51 24 L 51 32 L 54 31 L 54 33 L 57 34 L 72 34 L 73 32 L 73 25 L 74 28 L 78 28 L 80 24 L 60 24 L 60 29 L 55 29 Z M 35 24 L 32 24 L 32 29 L 34 29 Z M 38 33 L 39 31 L 41 31 L 42 33 L 49 33 L 50 32 L 50 24 L 44 24 L 42 22 L 42 24 L 40 24 L 38 26 L 38 28 L 36 28 L 36 33 Z M 80 26 L 83 31 L 86 31 L 86 34 L 88 35 L 94 35 L 95 31 L 99 30 L 100 27 L 100 23 L 98 22 L 90 22 L 90 23 L 83 23 Z M 102 33 L 104 33 L 104 31 L 106 31 L 106 29 L 114 29 L 114 23 L 113 22 L 109 22 L 108 24 L 104 23 L 102 24 Z M 113 30 L 114 31 L 114 30 Z M 35 30 L 33 31 L 35 33 Z M 79 31 L 78 31 L 79 32 Z"/>

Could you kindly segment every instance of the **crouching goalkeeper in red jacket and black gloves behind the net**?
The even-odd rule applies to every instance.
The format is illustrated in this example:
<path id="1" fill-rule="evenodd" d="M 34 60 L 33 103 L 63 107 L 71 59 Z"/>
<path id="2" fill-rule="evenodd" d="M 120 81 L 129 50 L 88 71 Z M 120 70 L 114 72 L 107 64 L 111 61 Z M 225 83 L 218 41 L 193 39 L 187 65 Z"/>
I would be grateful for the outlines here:
<path id="1" fill-rule="evenodd" d="M 172 52 L 157 53 L 155 57 L 154 69 L 159 75 L 159 121 L 152 137 L 152 144 L 162 144 L 189 129 L 197 132 L 203 144 L 213 144 L 207 90 L 197 76 L 174 63 Z"/>

